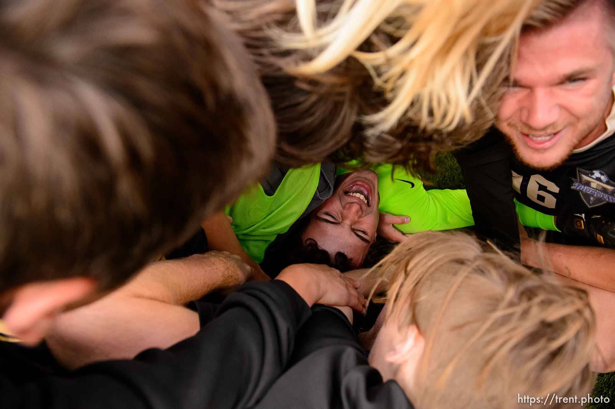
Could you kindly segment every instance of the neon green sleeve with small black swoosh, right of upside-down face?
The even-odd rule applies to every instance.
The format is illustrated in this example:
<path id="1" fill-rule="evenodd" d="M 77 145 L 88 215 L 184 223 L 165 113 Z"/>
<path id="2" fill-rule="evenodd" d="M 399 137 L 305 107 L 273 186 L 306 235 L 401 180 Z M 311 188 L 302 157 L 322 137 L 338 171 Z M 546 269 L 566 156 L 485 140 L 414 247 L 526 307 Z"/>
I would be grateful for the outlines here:
<path id="1" fill-rule="evenodd" d="M 474 225 L 472 208 L 465 189 L 425 190 L 419 176 L 402 166 L 387 163 L 371 168 L 378 175 L 378 210 L 395 216 L 409 216 L 410 223 L 394 225 L 402 233 L 449 230 Z M 349 172 L 339 169 L 338 174 Z"/>

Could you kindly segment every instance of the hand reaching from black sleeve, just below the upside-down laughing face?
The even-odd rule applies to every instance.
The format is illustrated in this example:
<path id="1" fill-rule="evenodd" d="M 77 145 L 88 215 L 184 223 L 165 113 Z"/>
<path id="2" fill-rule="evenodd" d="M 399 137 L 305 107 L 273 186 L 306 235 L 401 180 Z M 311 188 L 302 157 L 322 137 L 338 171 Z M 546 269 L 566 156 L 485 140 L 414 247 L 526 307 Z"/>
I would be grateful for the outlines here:
<path id="1" fill-rule="evenodd" d="M 287 282 L 312 306 L 316 303 L 349 306 L 365 313 L 365 298 L 357 290 L 359 281 L 321 264 L 294 264 L 280 272 L 277 279 Z"/>

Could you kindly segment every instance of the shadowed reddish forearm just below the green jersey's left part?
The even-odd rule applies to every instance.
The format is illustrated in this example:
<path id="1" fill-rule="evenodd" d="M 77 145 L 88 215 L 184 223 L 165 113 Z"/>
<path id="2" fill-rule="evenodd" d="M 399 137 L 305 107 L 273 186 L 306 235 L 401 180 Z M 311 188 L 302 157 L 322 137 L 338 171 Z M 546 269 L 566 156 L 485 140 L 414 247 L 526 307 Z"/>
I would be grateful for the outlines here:
<path id="1" fill-rule="evenodd" d="M 224 212 L 217 212 L 208 217 L 201 223 L 201 227 L 207 235 L 207 244 L 211 250 L 228 251 L 231 254 L 239 255 L 244 263 L 254 269 L 256 280 L 268 281 L 270 278 L 261 267 L 245 252 L 244 247 L 239 244 L 237 236 L 232 231 L 231 222 Z"/>

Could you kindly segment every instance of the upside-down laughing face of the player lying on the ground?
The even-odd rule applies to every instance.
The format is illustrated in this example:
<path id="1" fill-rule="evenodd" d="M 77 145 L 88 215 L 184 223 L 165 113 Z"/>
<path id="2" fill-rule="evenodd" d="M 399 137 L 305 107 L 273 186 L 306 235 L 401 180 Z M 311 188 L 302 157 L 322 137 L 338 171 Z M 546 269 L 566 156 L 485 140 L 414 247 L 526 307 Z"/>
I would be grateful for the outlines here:
<path id="1" fill-rule="evenodd" d="M 378 201 L 378 176 L 373 171 L 338 177 L 333 195 L 310 214 L 301 240 L 314 240 L 332 260 L 338 252 L 346 254 L 351 267 L 359 267 L 376 240 Z"/>

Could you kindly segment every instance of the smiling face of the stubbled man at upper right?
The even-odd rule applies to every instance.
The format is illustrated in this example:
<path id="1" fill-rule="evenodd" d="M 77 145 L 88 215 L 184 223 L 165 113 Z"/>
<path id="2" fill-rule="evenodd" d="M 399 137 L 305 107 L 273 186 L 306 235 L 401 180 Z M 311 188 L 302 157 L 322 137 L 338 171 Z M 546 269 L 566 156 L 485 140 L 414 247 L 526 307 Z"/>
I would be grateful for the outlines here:
<path id="1" fill-rule="evenodd" d="M 606 131 L 615 72 L 604 15 L 599 1 L 589 1 L 561 23 L 520 37 L 497 125 L 527 165 L 555 168 Z"/>

